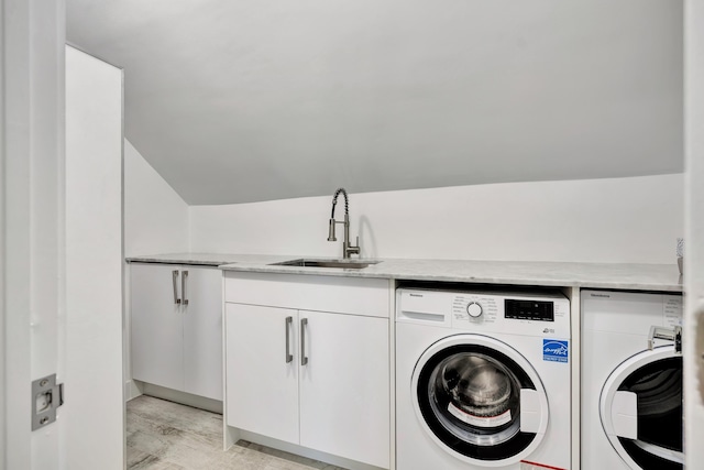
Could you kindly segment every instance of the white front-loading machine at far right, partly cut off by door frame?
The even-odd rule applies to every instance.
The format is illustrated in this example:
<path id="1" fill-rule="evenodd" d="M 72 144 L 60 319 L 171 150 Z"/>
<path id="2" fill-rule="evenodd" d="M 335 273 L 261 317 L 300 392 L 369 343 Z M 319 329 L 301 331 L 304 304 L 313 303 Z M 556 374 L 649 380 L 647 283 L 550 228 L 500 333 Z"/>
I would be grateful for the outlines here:
<path id="1" fill-rule="evenodd" d="M 682 296 L 582 291 L 582 468 L 680 470 Z"/>

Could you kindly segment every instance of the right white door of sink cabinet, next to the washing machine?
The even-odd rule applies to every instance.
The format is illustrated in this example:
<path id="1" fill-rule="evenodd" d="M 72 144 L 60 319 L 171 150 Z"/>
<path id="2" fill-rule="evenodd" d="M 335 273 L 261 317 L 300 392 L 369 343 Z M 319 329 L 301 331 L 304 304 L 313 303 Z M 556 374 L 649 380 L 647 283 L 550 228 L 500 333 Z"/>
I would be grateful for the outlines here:
<path id="1" fill-rule="evenodd" d="M 300 310 L 300 445 L 389 467 L 388 319 Z"/>

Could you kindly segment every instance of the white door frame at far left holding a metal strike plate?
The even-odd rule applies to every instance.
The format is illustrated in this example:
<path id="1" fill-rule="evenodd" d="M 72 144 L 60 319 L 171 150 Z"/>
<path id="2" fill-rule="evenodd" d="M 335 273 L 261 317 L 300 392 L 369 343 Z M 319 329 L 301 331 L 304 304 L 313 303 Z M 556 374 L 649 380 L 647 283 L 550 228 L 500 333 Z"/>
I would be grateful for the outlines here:
<path id="1" fill-rule="evenodd" d="M 1 0 L 0 466 L 56 468 L 61 422 L 31 430 L 31 381 L 58 373 L 63 283 L 64 0 Z"/>

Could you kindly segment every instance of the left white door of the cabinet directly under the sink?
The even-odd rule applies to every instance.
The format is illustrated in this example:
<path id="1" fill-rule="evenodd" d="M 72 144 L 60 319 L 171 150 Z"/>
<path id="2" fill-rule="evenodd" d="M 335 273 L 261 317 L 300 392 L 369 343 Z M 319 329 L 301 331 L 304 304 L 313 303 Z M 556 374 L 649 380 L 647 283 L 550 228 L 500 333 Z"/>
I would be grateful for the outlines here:
<path id="1" fill-rule="evenodd" d="M 229 426 L 298 444 L 297 319 L 287 308 L 226 304 Z"/>

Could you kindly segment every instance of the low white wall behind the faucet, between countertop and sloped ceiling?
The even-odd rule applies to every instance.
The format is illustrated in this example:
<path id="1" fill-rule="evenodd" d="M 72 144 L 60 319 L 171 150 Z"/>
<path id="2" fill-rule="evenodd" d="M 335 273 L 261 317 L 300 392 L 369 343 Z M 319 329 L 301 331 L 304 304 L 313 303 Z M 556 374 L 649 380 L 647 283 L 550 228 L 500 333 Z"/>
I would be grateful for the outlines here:
<path id="1" fill-rule="evenodd" d="M 351 234 L 361 234 L 364 256 L 673 263 L 683 182 L 673 174 L 352 194 Z M 341 241 L 327 241 L 331 199 L 190 206 L 190 250 L 339 256 Z M 343 208 L 340 199 L 338 218 Z"/>

